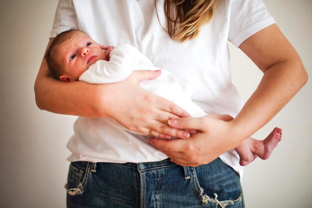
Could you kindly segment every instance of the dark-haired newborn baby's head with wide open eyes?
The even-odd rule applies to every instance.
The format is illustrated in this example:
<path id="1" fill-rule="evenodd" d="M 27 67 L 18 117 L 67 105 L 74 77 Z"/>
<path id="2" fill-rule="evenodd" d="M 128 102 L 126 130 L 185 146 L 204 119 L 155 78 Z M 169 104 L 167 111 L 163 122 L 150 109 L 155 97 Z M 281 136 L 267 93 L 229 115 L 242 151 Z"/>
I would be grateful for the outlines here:
<path id="1" fill-rule="evenodd" d="M 111 50 L 86 33 L 70 29 L 58 34 L 45 53 L 51 75 L 65 82 L 77 81 L 92 64 L 109 59 Z"/>

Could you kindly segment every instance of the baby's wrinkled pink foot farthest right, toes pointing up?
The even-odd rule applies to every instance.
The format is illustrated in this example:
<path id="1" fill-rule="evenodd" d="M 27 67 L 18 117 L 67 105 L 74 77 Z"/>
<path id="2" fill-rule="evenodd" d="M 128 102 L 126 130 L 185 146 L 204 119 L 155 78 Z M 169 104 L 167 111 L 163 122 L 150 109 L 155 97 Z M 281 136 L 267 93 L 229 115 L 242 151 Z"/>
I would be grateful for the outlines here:
<path id="1" fill-rule="evenodd" d="M 270 157 L 273 149 L 282 139 L 282 129 L 275 127 L 267 138 L 260 141 L 257 146 L 251 148 L 251 151 L 263 160 Z"/>

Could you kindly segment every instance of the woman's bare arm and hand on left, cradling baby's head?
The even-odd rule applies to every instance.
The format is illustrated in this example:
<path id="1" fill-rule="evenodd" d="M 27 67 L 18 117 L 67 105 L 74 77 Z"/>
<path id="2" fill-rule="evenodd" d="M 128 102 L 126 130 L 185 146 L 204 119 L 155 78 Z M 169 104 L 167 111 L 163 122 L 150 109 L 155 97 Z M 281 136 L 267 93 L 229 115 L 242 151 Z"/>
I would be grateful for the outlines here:
<path id="1" fill-rule="evenodd" d="M 52 42 L 49 41 L 48 46 Z M 183 130 L 166 124 L 168 118 L 188 116 L 182 108 L 139 86 L 155 79 L 160 71 L 136 71 L 123 82 L 94 85 L 85 82 L 65 83 L 51 78 L 43 60 L 34 90 L 40 109 L 86 117 L 112 117 L 132 131 L 160 138 L 177 136 Z"/>

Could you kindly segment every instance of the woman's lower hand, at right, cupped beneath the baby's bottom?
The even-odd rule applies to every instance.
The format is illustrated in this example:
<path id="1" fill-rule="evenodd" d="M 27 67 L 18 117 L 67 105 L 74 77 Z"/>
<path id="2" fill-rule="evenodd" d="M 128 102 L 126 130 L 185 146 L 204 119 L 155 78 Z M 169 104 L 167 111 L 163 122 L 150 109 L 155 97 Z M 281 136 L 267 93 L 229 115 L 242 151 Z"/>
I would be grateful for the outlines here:
<path id="1" fill-rule="evenodd" d="M 148 141 L 178 165 L 195 167 L 207 164 L 239 145 L 234 125 L 230 122 L 232 119 L 230 115 L 170 119 L 170 126 L 195 129 L 196 133 L 186 139 L 149 138 Z"/>

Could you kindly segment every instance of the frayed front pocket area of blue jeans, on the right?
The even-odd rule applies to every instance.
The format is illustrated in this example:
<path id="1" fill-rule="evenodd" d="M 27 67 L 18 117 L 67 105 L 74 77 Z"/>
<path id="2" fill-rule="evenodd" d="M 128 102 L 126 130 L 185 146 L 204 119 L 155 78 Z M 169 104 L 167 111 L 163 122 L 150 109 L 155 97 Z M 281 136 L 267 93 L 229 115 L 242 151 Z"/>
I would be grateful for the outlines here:
<path id="1" fill-rule="evenodd" d="M 190 168 L 193 187 L 204 207 L 244 208 L 238 174 L 220 159 Z"/>

